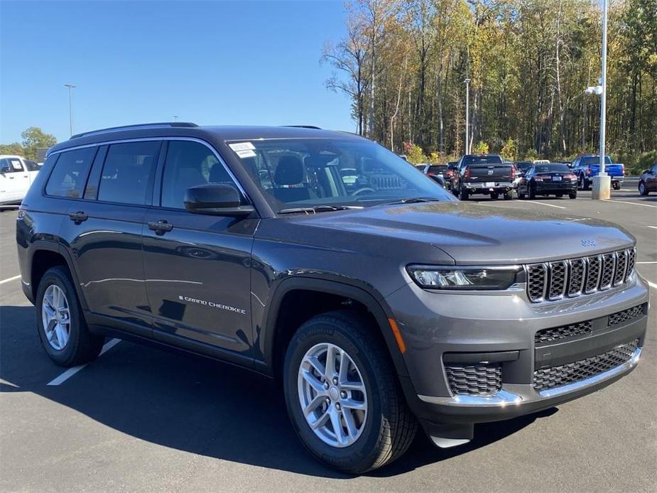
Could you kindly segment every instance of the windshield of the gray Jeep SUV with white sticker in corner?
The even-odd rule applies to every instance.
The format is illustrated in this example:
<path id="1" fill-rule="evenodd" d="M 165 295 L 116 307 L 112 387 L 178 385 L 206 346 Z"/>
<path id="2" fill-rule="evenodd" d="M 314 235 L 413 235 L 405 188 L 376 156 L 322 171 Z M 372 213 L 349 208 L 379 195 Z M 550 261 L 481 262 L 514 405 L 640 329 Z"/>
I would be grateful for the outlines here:
<path id="1" fill-rule="evenodd" d="M 228 144 L 276 212 L 368 207 L 410 198 L 455 200 L 377 143 L 356 139 L 264 139 Z"/>

